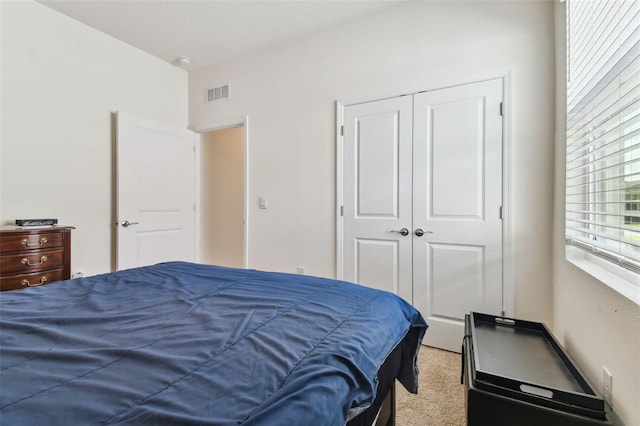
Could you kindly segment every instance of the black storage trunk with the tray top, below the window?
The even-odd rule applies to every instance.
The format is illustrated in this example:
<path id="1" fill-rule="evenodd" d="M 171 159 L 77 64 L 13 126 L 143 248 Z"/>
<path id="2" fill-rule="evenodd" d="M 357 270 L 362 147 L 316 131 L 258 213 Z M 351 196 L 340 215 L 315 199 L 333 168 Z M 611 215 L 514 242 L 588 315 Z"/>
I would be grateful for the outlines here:
<path id="1" fill-rule="evenodd" d="M 467 425 L 621 425 L 538 322 L 471 312 L 462 344 Z"/>

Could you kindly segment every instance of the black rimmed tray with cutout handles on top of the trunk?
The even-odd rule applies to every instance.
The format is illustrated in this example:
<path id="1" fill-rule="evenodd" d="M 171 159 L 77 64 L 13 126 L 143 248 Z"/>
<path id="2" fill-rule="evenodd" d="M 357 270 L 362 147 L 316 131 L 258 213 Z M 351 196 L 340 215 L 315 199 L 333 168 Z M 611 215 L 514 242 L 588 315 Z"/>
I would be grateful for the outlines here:
<path id="1" fill-rule="evenodd" d="M 534 404 L 604 419 L 604 400 L 547 327 L 472 312 L 474 385 Z"/>

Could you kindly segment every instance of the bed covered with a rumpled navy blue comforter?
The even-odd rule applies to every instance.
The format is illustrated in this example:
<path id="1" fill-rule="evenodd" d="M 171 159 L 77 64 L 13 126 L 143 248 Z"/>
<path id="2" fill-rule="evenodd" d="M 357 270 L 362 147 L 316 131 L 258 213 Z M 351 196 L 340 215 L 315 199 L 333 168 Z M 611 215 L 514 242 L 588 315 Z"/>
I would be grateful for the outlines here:
<path id="1" fill-rule="evenodd" d="M 418 387 L 393 294 L 168 262 L 0 294 L 0 423 L 371 424 Z"/>

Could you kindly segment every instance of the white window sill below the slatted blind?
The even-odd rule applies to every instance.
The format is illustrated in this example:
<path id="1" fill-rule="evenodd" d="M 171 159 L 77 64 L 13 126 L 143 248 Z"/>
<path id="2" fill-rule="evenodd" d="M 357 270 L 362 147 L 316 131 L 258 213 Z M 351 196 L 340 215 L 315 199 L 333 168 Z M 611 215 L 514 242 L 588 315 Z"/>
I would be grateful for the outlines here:
<path id="1" fill-rule="evenodd" d="M 572 246 L 565 246 L 567 261 L 609 288 L 640 305 L 640 275 Z"/>

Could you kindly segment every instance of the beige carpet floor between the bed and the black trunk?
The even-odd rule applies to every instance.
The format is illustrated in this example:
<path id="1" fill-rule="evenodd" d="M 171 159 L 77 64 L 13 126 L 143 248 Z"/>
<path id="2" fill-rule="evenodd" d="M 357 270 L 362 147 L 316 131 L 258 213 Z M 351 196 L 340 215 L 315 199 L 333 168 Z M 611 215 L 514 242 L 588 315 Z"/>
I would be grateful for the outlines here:
<path id="1" fill-rule="evenodd" d="M 418 356 L 418 394 L 396 382 L 397 426 L 464 426 L 461 355 L 423 346 Z"/>

